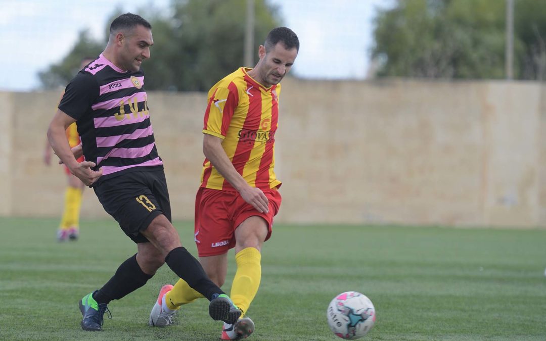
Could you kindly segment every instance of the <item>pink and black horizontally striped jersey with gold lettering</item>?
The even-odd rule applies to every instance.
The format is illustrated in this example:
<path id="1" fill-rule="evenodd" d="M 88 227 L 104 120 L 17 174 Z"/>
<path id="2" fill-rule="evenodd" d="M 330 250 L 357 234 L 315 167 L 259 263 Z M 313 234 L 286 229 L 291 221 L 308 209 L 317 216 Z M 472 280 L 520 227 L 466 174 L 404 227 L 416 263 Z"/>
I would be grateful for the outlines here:
<path id="1" fill-rule="evenodd" d="M 101 179 L 163 167 L 142 69 L 123 71 L 100 55 L 70 81 L 58 107 L 76 119 L 85 160 L 102 167 Z"/>

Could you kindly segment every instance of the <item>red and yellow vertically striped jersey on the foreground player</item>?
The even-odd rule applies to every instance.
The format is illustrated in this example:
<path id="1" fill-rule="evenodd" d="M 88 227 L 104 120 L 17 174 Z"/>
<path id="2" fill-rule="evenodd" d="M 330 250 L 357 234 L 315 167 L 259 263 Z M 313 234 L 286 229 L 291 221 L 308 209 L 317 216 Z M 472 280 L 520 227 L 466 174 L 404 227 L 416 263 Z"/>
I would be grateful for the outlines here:
<path id="1" fill-rule="evenodd" d="M 210 89 L 203 133 L 223 139 L 225 153 L 250 186 L 269 189 L 281 184 L 274 172 L 281 85 L 265 88 L 248 70 L 239 68 Z M 235 190 L 206 158 L 201 187 Z"/>

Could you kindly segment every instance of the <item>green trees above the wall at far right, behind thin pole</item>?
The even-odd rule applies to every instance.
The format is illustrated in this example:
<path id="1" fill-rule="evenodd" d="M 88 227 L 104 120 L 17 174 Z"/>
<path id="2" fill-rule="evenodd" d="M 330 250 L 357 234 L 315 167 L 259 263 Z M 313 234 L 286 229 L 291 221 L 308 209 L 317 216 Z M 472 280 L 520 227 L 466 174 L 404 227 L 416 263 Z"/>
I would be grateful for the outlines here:
<path id="1" fill-rule="evenodd" d="M 514 78 L 543 80 L 546 1 L 514 3 Z M 374 25 L 377 76 L 505 77 L 504 0 L 396 0 Z"/>

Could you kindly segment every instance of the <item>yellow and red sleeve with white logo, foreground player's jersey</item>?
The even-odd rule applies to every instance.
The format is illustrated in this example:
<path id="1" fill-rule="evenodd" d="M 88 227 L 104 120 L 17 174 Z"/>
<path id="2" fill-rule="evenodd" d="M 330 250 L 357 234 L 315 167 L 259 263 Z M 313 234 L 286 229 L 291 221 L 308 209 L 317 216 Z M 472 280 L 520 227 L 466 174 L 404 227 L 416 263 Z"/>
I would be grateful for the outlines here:
<path id="1" fill-rule="evenodd" d="M 218 87 L 209 98 L 205 112 L 203 133 L 224 139 L 233 112 L 238 105 L 238 96 L 230 89 Z"/>

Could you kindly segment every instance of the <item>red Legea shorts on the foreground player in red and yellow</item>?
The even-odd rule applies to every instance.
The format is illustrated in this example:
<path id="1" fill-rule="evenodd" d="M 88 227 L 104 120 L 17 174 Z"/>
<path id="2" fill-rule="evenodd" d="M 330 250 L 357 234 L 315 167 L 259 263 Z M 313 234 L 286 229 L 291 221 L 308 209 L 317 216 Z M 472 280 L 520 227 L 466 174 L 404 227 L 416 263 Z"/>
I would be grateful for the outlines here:
<path id="1" fill-rule="evenodd" d="M 268 223 L 271 237 L 273 217 L 281 207 L 276 188 L 263 191 L 269 201 L 269 213 L 260 213 L 241 198 L 239 192 L 200 187 L 195 197 L 195 243 L 200 257 L 215 256 L 235 247 L 235 229 L 245 219 L 258 216 Z"/>

